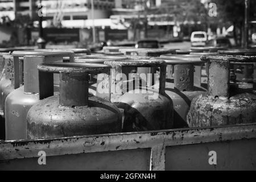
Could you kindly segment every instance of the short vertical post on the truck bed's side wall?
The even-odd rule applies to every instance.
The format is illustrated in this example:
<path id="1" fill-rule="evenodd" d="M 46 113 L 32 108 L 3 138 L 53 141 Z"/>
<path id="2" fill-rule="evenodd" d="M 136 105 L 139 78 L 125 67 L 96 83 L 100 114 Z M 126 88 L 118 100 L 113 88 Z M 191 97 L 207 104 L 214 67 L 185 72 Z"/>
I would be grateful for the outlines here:
<path id="1" fill-rule="evenodd" d="M 151 148 L 150 171 L 164 171 L 166 168 L 166 146 L 164 143 Z"/>

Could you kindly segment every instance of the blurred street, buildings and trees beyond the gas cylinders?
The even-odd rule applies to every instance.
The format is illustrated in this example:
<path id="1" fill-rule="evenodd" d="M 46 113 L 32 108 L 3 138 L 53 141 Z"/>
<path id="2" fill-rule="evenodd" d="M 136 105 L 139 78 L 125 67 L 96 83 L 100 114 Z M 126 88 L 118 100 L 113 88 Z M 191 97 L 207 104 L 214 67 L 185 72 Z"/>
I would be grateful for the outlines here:
<path id="1" fill-rule="evenodd" d="M 189 49 L 192 32 L 197 32 L 194 39 L 205 32 L 209 46 L 254 47 L 256 1 L 0 0 L 0 48 L 43 42 L 46 48 L 97 51 L 138 46 L 138 40 L 146 39 L 165 48 Z"/>

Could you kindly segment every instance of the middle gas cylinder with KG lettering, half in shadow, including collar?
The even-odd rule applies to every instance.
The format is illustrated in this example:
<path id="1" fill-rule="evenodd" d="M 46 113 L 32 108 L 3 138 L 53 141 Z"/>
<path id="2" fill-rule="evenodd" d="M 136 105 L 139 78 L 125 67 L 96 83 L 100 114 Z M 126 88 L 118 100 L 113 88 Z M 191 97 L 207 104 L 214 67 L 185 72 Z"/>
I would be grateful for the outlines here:
<path id="1" fill-rule="evenodd" d="M 166 63 L 162 60 L 105 61 L 111 65 L 110 100 L 123 111 L 123 131 L 171 129 L 173 108 L 164 92 Z M 159 67 L 159 74 L 122 74 L 126 67 Z M 128 78 L 128 79 L 127 79 Z M 151 90 L 151 81 L 159 82 L 158 90 Z M 128 81 L 127 81 L 128 80 Z M 128 90 L 127 90 L 128 89 Z"/>

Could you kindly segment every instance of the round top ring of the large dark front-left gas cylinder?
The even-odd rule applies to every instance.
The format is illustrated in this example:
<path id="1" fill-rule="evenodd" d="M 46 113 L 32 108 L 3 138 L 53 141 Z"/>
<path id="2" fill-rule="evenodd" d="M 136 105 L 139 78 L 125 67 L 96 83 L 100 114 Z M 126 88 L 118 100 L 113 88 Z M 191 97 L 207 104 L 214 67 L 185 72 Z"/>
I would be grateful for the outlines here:
<path id="1" fill-rule="evenodd" d="M 43 63 L 38 65 L 38 70 L 42 72 L 59 73 L 61 71 L 85 71 L 87 73 L 100 73 L 110 66 L 93 63 Z"/>

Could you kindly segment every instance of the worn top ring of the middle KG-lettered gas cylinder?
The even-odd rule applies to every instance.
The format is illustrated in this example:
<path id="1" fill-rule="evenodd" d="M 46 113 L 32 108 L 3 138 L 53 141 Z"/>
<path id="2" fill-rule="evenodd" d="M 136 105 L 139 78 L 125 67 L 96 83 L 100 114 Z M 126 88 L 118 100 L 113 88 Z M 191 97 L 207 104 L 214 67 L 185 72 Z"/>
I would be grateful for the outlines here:
<path id="1" fill-rule="evenodd" d="M 104 64 L 110 65 L 112 67 L 121 66 L 121 67 L 160 67 L 166 65 L 163 60 L 113 60 L 105 61 Z"/>

